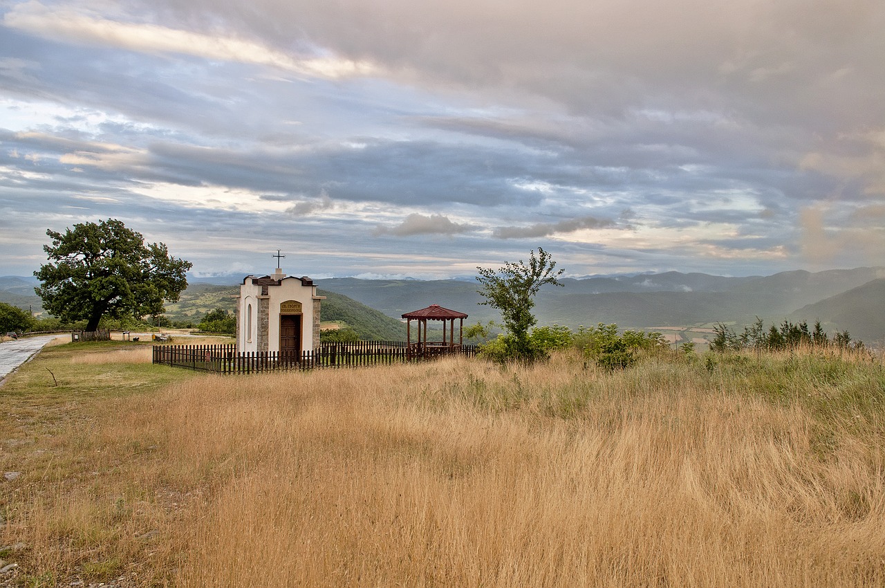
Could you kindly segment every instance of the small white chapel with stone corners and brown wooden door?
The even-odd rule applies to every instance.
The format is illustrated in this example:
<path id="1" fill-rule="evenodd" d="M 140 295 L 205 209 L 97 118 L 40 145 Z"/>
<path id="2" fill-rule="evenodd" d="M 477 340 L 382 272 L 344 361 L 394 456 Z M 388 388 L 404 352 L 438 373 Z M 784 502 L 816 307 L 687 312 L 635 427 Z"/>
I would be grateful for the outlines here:
<path id="1" fill-rule="evenodd" d="M 247 275 L 235 298 L 238 352 L 279 352 L 300 360 L 319 347 L 319 303 L 326 297 L 317 296 L 306 275 L 285 275 L 279 267 L 273 275 Z"/>

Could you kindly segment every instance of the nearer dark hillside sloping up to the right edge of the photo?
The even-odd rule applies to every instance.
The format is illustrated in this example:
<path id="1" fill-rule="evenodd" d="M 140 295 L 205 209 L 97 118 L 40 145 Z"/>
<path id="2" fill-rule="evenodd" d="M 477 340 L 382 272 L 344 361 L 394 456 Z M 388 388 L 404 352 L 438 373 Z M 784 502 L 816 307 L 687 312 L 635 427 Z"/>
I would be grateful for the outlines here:
<path id="1" fill-rule="evenodd" d="M 866 344 L 885 343 L 885 278 L 803 306 L 790 314 L 792 321 L 819 321 L 832 334 L 847 330 Z"/>

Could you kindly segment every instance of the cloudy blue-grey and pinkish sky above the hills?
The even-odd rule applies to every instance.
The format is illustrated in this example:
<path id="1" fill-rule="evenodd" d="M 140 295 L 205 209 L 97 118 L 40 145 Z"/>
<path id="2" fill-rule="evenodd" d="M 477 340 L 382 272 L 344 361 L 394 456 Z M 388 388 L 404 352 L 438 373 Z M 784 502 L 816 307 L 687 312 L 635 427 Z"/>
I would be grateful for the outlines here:
<path id="1" fill-rule="evenodd" d="M 880 266 L 881 0 L 0 0 L 0 275 Z"/>

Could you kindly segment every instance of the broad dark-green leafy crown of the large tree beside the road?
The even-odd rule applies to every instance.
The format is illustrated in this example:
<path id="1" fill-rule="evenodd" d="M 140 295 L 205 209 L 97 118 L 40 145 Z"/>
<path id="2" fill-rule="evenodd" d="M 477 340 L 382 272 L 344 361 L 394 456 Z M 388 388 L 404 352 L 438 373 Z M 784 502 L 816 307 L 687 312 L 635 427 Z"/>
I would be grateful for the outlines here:
<path id="1" fill-rule="evenodd" d="M 169 255 L 165 244 L 145 244 L 141 233 L 121 221 L 86 222 L 47 230 L 49 263 L 34 275 L 43 308 L 63 321 L 87 321 L 96 330 L 102 317 L 141 318 L 163 313 L 188 287 L 191 263 Z"/>

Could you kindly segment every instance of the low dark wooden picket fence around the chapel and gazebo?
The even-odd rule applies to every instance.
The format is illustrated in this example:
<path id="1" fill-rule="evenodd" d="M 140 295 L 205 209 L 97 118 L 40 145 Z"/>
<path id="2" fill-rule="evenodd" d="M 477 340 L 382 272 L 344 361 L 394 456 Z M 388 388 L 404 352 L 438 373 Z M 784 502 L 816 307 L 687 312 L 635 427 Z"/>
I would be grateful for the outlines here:
<path id="1" fill-rule="evenodd" d="M 473 357 L 476 355 L 476 345 L 463 345 L 453 352 Z M 153 347 L 154 363 L 216 374 L 254 374 L 321 367 L 368 367 L 435 357 L 440 357 L 440 354 L 429 350 L 427 357 L 410 357 L 409 347 L 404 341 L 323 344 L 316 350 L 302 353 L 300 357 L 280 352 L 237 352 L 235 344 Z"/>

